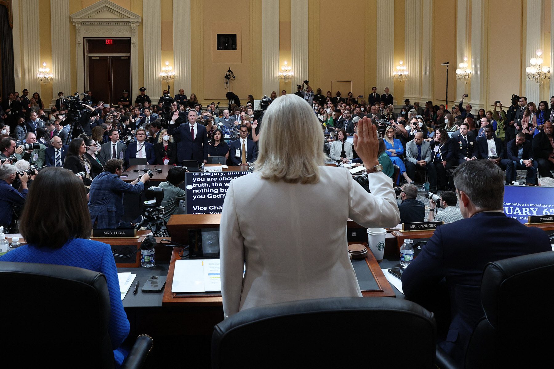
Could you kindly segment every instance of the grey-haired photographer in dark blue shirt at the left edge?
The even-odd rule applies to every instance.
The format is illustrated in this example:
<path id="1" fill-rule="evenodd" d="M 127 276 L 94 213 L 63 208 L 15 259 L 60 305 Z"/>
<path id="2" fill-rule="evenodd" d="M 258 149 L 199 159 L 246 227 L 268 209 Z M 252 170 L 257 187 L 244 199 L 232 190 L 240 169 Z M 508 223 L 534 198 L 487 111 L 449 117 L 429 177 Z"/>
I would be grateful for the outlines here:
<path id="1" fill-rule="evenodd" d="M 16 178 L 21 182 L 17 190 L 12 186 Z M 0 226 L 4 226 L 5 233 L 9 233 L 12 226 L 14 206 L 23 206 L 25 198 L 27 198 L 28 180 L 29 175 L 27 173 L 18 174 L 14 165 L 0 166 Z"/>

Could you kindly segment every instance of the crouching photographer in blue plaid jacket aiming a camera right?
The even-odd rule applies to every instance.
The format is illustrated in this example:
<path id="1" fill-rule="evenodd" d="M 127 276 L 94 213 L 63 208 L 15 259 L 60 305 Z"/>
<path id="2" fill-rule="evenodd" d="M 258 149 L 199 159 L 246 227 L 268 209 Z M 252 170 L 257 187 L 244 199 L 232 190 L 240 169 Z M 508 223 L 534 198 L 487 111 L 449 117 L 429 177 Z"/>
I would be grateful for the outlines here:
<path id="1" fill-rule="evenodd" d="M 123 160 L 110 159 L 104 169 L 90 185 L 89 211 L 93 228 L 131 228 L 131 224 L 121 222 L 124 215 L 123 194 L 141 193 L 144 184 L 152 178 L 151 172 L 126 183 L 120 178 Z"/>

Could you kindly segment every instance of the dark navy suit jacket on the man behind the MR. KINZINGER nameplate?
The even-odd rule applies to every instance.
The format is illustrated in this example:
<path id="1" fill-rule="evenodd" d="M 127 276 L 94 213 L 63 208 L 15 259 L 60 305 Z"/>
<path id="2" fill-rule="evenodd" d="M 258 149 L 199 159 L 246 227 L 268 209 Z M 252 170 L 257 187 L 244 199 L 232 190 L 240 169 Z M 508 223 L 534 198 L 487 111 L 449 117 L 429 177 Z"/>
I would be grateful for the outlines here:
<path id="1" fill-rule="evenodd" d="M 544 231 L 500 212 L 480 212 L 435 230 L 402 274 L 404 295 L 429 308 L 439 281 L 446 278 L 452 320 L 441 346 L 463 362 L 471 332 L 484 316 L 479 292 L 486 263 L 543 251 L 552 251 Z"/>

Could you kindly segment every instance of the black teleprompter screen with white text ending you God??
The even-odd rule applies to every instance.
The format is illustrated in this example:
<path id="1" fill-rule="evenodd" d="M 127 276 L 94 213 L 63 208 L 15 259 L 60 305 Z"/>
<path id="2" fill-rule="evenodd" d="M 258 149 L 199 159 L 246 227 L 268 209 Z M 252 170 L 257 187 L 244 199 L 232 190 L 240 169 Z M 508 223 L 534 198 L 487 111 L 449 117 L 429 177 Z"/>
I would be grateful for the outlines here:
<path id="1" fill-rule="evenodd" d="M 229 183 L 248 171 L 192 172 L 184 178 L 187 214 L 221 214 Z"/>

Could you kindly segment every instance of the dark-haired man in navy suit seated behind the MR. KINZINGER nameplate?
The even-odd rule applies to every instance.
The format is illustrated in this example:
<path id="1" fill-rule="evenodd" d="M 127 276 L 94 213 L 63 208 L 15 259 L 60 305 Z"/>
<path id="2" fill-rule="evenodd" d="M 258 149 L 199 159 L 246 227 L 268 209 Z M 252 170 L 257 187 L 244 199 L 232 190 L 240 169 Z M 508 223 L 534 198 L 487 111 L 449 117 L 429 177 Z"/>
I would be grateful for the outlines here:
<path id="1" fill-rule="evenodd" d="M 435 313 L 440 346 L 462 364 L 484 316 L 479 292 L 485 265 L 552 248 L 543 230 L 504 214 L 504 175 L 493 162 L 460 164 L 454 184 L 465 219 L 435 230 L 402 274 L 402 288 L 407 299 Z"/>

